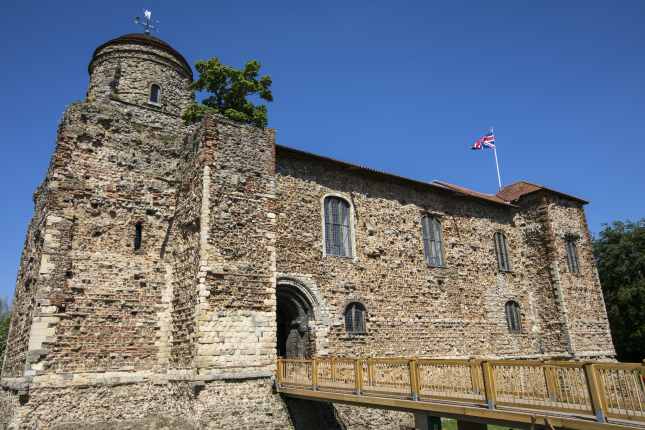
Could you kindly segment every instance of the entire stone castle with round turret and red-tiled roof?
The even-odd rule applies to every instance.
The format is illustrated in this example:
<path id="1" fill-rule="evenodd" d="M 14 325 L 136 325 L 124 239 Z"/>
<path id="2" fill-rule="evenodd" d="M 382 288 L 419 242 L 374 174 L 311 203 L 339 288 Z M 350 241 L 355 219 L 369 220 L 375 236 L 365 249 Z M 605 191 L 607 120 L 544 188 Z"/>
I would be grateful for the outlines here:
<path id="1" fill-rule="evenodd" d="M 34 193 L 8 428 L 292 428 L 276 358 L 611 358 L 585 201 L 495 195 L 208 116 L 167 43 L 99 46 Z M 404 413 L 333 406 L 345 428 Z M 165 426 L 165 427 L 164 427 Z"/>

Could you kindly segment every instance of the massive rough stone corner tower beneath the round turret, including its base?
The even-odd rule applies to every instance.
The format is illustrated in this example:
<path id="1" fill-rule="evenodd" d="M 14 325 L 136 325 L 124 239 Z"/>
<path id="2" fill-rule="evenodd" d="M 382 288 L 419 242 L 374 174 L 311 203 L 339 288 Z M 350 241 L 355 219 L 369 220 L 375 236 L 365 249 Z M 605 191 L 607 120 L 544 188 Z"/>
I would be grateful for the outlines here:
<path id="1" fill-rule="evenodd" d="M 160 115 L 116 101 L 65 114 L 19 277 L 37 272 L 42 299 L 16 293 L 11 428 L 291 426 L 271 391 L 272 132 Z M 249 142 L 257 153 L 232 164 Z"/>

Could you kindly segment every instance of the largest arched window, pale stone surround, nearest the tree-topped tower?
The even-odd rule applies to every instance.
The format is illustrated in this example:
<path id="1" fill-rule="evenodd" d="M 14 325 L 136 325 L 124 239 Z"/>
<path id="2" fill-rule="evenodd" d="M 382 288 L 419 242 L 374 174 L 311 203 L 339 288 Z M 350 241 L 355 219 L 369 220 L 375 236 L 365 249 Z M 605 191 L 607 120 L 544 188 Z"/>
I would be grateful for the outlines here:
<path id="1" fill-rule="evenodd" d="M 325 252 L 338 257 L 352 256 L 349 203 L 340 197 L 325 198 Z"/>

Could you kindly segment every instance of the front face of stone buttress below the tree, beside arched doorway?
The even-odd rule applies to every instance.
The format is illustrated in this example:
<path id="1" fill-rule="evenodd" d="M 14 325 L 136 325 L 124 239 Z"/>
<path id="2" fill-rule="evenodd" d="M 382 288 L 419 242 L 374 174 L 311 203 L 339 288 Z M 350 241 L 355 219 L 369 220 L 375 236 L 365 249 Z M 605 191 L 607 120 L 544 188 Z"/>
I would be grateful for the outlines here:
<path id="1" fill-rule="evenodd" d="M 204 121 L 197 367 L 270 375 L 276 359 L 273 131 Z"/>

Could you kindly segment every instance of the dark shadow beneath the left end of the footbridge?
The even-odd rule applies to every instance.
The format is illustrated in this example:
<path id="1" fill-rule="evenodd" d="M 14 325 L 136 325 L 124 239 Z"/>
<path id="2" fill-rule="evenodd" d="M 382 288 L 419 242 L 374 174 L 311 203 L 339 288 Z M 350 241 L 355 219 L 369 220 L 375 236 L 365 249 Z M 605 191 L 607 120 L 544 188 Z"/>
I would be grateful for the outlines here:
<path id="1" fill-rule="evenodd" d="M 285 398 L 295 430 L 347 430 L 331 403 Z"/>

